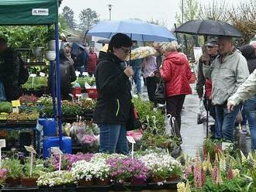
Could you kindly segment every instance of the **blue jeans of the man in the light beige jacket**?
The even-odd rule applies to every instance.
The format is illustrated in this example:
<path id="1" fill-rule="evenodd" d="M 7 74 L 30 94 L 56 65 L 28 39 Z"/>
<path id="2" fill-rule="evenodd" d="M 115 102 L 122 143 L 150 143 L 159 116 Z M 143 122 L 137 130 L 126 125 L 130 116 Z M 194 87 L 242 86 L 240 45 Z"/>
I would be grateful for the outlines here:
<path id="1" fill-rule="evenodd" d="M 227 111 L 227 104 L 215 105 L 216 109 L 216 120 L 218 123 L 218 129 L 223 139 L 234 141 L 234 123 L 237 113 L 240 109 L 240 105 L 234 107 L 233 111 Z"/>

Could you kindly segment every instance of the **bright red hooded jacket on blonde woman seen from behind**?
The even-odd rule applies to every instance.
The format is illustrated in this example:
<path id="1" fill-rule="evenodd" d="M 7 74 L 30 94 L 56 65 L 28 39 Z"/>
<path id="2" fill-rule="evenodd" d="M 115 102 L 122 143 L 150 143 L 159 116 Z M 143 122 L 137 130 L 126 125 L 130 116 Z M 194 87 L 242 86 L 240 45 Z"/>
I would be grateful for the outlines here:
<path id="1" fill-rule="evenodd" d="M 185 54 L 171 52 L 164 59 L 160 74 L 165 82 L 165 94 L 167 97 L 178 94 L 192 94 L 189 85 L 192 73 Z"/>

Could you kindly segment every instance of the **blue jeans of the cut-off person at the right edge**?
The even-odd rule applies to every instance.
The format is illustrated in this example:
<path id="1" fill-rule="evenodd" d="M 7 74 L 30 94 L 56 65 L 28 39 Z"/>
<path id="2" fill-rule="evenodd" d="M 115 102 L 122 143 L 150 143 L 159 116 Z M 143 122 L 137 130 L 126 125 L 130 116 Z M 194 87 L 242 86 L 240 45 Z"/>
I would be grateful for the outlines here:
<path id="1" fill-rule="evenodd" d="M 251 149 L 256 149 L 256 95 L 244 102 L 244 112 L 251 132 Z"/>

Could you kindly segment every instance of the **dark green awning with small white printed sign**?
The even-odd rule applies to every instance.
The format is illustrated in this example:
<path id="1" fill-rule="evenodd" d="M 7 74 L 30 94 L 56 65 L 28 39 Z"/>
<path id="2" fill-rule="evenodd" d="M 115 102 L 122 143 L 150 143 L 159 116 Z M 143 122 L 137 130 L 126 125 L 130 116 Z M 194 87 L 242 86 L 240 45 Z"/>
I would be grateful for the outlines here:
<path id="1" fill-rule="evenodd" d="M 0 25 L 58 22 L 58 0 L 0 0 Z"/>

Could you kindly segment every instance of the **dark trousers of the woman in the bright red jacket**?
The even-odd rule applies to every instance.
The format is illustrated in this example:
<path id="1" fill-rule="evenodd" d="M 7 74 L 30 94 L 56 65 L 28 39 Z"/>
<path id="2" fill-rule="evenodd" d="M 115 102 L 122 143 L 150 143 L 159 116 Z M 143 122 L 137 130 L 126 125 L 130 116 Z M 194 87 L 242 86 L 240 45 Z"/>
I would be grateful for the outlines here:
<path id="1" fill-rule="evenodd" d="M 182 138 L 181 135 L 181 125 L 182 125 L 182 106 L 185 101 L 185 94 L 178 94 L 166 99 L 166 111 L 167 114 L 171 114 L 172 117 L 175 117 L 175 133 L 179 138 Z"/>

